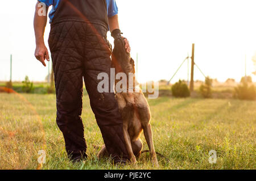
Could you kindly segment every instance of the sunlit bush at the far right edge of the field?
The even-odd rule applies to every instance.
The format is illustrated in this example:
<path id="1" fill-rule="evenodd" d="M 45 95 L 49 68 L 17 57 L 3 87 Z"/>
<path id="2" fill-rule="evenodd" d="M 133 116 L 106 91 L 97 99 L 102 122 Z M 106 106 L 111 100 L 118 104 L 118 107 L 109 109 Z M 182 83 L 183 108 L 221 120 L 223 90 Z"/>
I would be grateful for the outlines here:
<path id="1" fill-rule="evenodd" d="M 255 100 L 256 99 L 256 87 L 254 85 L 249 86 L 247 82 L 242 82 L 234 89 L 234 98 L 241 100 Z"/>

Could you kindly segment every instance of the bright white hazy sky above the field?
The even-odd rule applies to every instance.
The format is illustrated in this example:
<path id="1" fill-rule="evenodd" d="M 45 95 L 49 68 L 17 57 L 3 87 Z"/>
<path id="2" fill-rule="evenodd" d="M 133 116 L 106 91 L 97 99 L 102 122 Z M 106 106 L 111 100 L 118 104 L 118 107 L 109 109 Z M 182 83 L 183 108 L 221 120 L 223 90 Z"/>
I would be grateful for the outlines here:
<path id="1" fill-rule="evenodd" d="M 251 57 L 256 53 L 255 0 L 116 0 L 119 24 L 138 53 L 138 81 L 169 80 L 195 43 L 195 62 L 205 75 L 224 82 L 240 81 L 246 73 L 256 77 Z M 10 54 L 13 54 L 13 81 L 26 75 L 31 81 L 44 81 L 48 74 L 35 59 L 33 19 L 36 0 L 1 2 L 0 81 L 10 79 Z M 49 20 L 48 20 L 49 22 Z M 45 42 L 50 31 L 47 23 Z M 108 33 L 108 39 L 113 39 Z M 189 60 L 190 61 L 190 60 Z M 185 62 L 172 79 L 187 80 L 191 62 Z M 195 79 L 204 75 L 195 68 Z"/>

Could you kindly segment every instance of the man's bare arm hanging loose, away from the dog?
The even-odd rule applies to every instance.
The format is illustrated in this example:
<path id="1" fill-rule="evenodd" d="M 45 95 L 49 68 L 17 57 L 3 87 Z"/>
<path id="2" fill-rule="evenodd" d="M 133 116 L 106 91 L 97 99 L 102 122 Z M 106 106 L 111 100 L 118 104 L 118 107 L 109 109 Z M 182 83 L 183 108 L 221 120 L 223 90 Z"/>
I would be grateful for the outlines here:
<path id="1" fill-rule="evenodd" d="M 49 53 L 46 45 L 44 44 L 44 31 L 46 29 L 48 7 L 46 7 L 46 16 L 39 15 L 38 12 L 42 8 L 39 6 L 39 3 L 39 1 L 36 3 L 34 16 L 34 30 L 36 39 L 35 57 L 37 60 L 42 62 L 44 66 L 46 66 L 44 60 L 49 61 Z"/>

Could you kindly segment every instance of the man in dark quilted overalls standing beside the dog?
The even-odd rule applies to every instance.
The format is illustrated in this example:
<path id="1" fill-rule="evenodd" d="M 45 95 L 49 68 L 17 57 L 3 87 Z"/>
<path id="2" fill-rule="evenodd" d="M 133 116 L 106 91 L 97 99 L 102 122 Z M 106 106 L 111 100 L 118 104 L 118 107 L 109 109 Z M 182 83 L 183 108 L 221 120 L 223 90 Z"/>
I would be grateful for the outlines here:
<path id="1" fill-rule="evenodd" d="M 41 16 L 40 2 L 52 7 L 49 12 L 51 50 L 56 88 L 56 122 L 63 132 L 65 147 L 72 161 L 85 159 L 86 142 L 82 111 L 82 78 L 90 98 L 90 106 L 100 127 L 108 154 L 115 163 L 126 162 L 127 150 L 123 138 L 122 118 L 117 101 L 110 92 L 97 91 L 99 73 L 110 77 L 112 47 L 106 39 L 108 30 L 115 37 L 121 33 L 118 24 L 118 9 L 114 0 L 39 0 L 36 4 L 34 28 L 36 37 L 35 57 L 44 66 L 49 61 L 44 44 L 47 16 Z M 130 46 L 125 39 L 125 47 Z M 110 81 L 109 81 L 110 82 Z M 110 85 L 110 84 L 109 84 Z"/>

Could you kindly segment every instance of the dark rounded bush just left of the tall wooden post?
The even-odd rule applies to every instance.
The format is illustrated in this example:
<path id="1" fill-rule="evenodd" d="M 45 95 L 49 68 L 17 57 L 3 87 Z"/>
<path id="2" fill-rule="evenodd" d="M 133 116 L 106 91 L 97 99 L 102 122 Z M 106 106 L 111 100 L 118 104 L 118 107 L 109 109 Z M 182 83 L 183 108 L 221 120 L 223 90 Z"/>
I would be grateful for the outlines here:
<path id="1" fill-rule="evenodd" d="M 172 86 L 172 95 L 178 98 L 186 98 L 190 96 L 187 83 L 180 80 L 179 82 L 176 82 L 175 85 Z"/>

